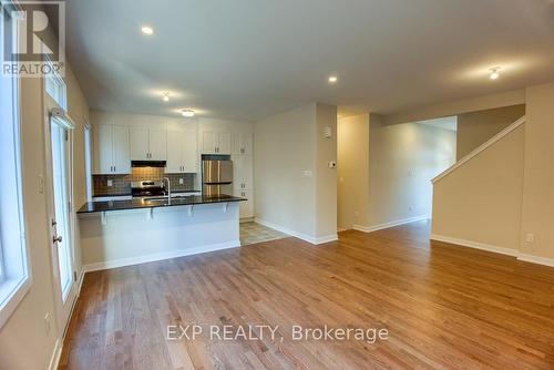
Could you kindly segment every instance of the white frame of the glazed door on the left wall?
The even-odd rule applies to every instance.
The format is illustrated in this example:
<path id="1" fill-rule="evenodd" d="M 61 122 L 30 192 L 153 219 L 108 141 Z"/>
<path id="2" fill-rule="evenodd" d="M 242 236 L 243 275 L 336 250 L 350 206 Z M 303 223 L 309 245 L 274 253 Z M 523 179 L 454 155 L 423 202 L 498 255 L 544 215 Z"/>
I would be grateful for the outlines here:
<path id="1" fill-rule="evenodd" d="M 44 120 L 44 148 L 45 148 L 45 176 L 44 184 L 47 194 L 47 216 L 48 216 L 48 229 L 49 232 L 49 247 L 51 248 L 51 260 L 52 260 L 52 276 L 53 276 L 53 295 L 55 304 L 55 318 L 60 336 L 63 337 L 65 333 L 65 328 L 69 323 L 69 318 L 73 309 L 73 305 L 78 294 L 78 278 L 75 276 L 75 212 L 73 206 L 73 130 L 74 124 L 72 121 L 63 113 L 58 104 L 51 99 L 47 93 L 44 93 L 45 103 L 45 120 Z M 54 189 L 53 189 L 53 164 L 52 164 L 52 146 L 51 146 L 51 124 L 52 120 L 57 120 L 57 124 L 62 125 L 68 130 L 68 144 L 66 144 L 66 176 L 68 176 L 68 201 L 69 217 L 68 217 L 68 232 L 70 234 L 70 255 L 71 255 L 71 287 L 68 290 L 68 295 L 64 299 L 61 289 L 60 281 L 60 270 L 59 270 L 59 257 L 58 257 L 58 246 L 53 241 L 57 236 L 55 225 L 55 207 L 54 207 Z M 63 241 L 62 241 L 63 243 Z"/>

